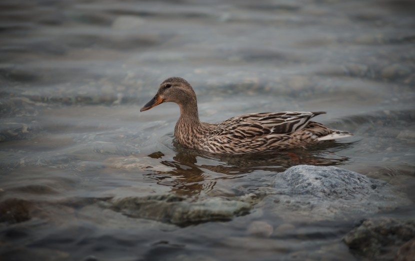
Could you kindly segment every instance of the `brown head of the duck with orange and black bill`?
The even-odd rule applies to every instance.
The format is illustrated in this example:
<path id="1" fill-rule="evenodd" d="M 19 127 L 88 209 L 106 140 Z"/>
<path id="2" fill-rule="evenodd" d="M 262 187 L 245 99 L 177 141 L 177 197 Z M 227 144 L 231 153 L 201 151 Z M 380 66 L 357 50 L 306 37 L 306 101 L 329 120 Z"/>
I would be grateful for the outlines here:
<path id="1" fill-rule="evenodd" d="M 164 80 L 158 91 L 149 102 L 147 102 L 140 111 L 146 111 L 163 102 L 175 102 L 180 107 L 190 101 L 196 101 L 196 94 L 190 84 L 183 78 L 171 77 Z"/>

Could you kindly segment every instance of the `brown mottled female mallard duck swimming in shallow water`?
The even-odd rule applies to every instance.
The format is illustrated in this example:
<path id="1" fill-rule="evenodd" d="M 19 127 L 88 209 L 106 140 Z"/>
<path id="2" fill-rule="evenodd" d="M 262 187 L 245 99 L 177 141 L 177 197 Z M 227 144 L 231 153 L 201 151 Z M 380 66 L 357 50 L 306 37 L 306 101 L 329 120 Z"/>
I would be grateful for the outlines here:
<path id="1" fill-rule="evenodd" d="M 168 101 L 177 103 L 180 108 L 180 118 L 174 127 L 174 136 L 178 143 L 187 148 L 211 153 L 275 151 L 305 147 L 352 135 L 310 121 L 312 117 L 325 113 L 321 111 L 250 113 L 217 124 L 200 122 L 196 94 L 190 84 L 179 77 L 163 81 L 154 98 L 140 111 Z"/>

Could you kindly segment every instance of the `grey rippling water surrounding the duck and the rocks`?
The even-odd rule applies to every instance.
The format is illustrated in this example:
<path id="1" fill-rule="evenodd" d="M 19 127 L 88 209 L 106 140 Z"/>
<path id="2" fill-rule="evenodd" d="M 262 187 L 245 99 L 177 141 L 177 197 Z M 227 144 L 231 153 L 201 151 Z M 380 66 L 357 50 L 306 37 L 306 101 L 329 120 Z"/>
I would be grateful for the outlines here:
<path id="1" fill-rule="evenodd" d="M 341 238 L 362 217 L 290 222 L 264 207 L 298 164 L 415 199 L 412 1 L 3 0 L 0 12 L 2 260 L 356 259 Z M 206 122 L 327 111 L 316 120 L 354 136 L 268 156 L 188 151 L 175 104 L 139 112 L 170 76 L 192 84 Z M 250 194 L 248 214 L 180 226 L 108 205 Z"/>

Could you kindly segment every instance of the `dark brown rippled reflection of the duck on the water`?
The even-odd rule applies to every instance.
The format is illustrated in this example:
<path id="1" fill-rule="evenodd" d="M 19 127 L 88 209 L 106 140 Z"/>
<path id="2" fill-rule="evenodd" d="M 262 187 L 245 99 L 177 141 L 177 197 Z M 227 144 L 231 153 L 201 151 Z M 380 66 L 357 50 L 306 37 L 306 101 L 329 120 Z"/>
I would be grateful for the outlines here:
<path id="1" fill-rule="evenodd" d="M 164 154 L 155 152 L 148 155 L 160 159 L 160 163 L 171 168 L 170 171 L 154 171 L 150 176 L 158 184 L 171 186 L 179 195 L 192 196 L 212 190 L 219 179 L 243 177 L 253 171 L 282 172 L 285 169 L 307 164 L 314 166 L 341 165 L 349 158 L 336 154 L 348 144 L 327 142 L 309 150 L 287 150 L 273 153 L 252 155 L 217 155 L 188 150 L 173 141 L 175 156 L 173 160 L 163 160 Z M 333 150 L 334 149 L 334 150 Z M 209 173 L 210 172 L 210 173 Z M 212 177 L 212 173 L 216 173 Z M 172 181 L 165 181 L 166 175 L 174 176 Z M 252 174 L 254 175 L 254 174 Z"/>

